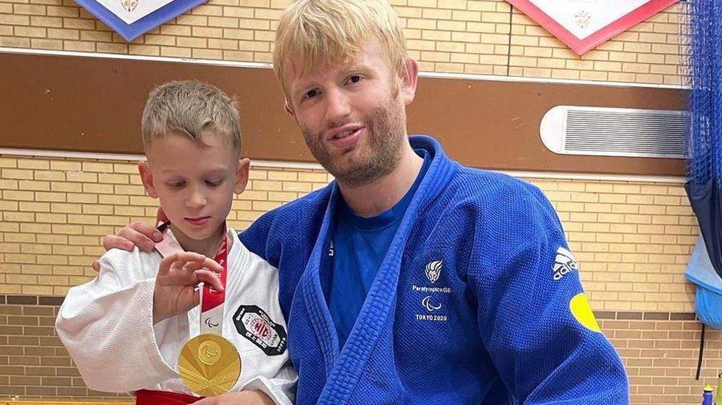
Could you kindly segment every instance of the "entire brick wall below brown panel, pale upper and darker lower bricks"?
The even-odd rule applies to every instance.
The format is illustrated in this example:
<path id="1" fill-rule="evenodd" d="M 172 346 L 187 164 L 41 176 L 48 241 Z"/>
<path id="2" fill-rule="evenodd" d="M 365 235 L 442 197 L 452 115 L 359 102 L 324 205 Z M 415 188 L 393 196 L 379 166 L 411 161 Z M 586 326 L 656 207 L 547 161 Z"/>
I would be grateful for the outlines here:
<path id="1" fill-rule="evenodd" d="M 144 195 L 131 161 L 5 155 L 0 178 L 0 295 L 14 303 L 0 312 L 0 365 L 9 370 L 0 371 L 0 393 L 103 396 L 84 391 L 72 374 L 51 308 L 71 285 L 93 276 L 89 264 L 102 254 L 103 236 L 130 221 L 151 221 L 157 202 Z M 245 228 L 329 180 L 322 170 L 253 166 L 230 224 Z M 684 268 L 699 230 L 682 184 L 527 180 L 560 215 L 592 307 L 627 365 L 633 403 L 695 404 L 700 324 Z M 708 380 L 722 368 L 720 349 L 722 337 L 711 332 Z M 45 357 L 57 362 L 48 365 L 54 371 L 44 368 Z"/>

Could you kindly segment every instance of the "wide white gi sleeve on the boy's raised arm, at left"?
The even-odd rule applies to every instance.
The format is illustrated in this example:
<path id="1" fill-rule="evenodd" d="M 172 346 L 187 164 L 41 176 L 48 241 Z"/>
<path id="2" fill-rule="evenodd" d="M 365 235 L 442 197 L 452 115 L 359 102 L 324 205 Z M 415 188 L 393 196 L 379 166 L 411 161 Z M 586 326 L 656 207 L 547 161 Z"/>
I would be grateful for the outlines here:
<path id="1" fill-rule="evenodd" d="M 163 360 L 157 339 L 185 342 L 188 320 L 172 317 L 154 329 L 155 272 L 148 269 L 157 270 L 158 264 L 143 261 L 137 248 L 110 250 L 100 259 L 97 277 L 71 288 L 58 312 L 58 337 L 91 389 L 157 389 L 163 380 L 178 376 Z"/>

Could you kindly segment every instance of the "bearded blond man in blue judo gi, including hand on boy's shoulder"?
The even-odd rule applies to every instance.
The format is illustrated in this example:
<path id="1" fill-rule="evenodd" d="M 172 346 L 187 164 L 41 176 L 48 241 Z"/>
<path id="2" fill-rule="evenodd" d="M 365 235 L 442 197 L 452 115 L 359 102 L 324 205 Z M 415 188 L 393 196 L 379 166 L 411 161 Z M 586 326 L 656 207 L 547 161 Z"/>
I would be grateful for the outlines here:
<path id="1" fill-rule="evenodd" d="M 546 197 L 407 137 L 418 66 L 386 0 L 293 3 L 274 70 L 336 177 L 241 234 L 279 268 L 297 404 L 628 403 Z"/>

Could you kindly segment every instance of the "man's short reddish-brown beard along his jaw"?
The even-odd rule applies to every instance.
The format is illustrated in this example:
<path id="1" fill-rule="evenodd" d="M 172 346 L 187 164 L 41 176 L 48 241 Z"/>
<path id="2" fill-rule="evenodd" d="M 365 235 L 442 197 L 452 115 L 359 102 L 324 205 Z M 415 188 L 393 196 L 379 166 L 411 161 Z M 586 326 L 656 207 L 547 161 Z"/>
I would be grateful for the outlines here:
<path id="1" fill-rule="evenodd" d="M 406 142 L 406 114 L 390 99 L 365 115 L 365 138 L 354 146 L 353 156 L 331 156 L 323 147 L 323 136 L 303 130 L 306 145 L 318 163 L 339 183 L 350 187 L 371 184 L 396 169 Z M 350 158 L 350 159 L 349 159 Z"/>

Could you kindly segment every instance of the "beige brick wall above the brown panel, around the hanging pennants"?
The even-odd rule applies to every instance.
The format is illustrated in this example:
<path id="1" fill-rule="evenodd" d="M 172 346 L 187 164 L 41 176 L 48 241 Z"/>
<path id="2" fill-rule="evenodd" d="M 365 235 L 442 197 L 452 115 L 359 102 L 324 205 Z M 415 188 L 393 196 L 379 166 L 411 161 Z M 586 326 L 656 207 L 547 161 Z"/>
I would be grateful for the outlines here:
<path id="1" fill-rule="evenodd" d="M 210 0 L 131 43 L 71 0 L 0 0 L 0 46 L 270 62 L 290 0 Z M 678 6 L 579 57 L 503 0 L 391 0 L 424 71 L 679 84 Z"/>

